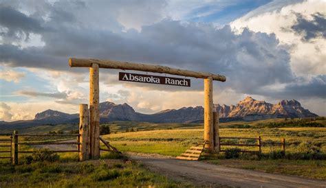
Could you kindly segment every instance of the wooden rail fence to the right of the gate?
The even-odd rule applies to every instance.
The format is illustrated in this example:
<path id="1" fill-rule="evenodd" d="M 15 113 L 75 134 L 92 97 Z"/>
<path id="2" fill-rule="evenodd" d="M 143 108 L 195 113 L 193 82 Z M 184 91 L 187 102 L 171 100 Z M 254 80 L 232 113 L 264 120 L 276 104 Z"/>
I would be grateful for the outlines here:
<path id="1" fill-rule="evenodd" d="M 221 143 L 223 139 L 236 139 L 236 140 L 255 140 L 256 143 Z M 279 145 L 281 146 L 281 150 L 285 153 L 285 139 L 281 139 L 281 142 L 262 142 L 261 137 L 258 136 L 257 138 L 250 138 L 250 137 L 219 137 L 219 151 L 226 152 L 226 150 L 221 150 L 221 146 L 248 146 L 248 147 L 257 147 L 257 151 L 248 151 L 248 150 L 241 150 L 241 152 L 259 152 L 261 153 L 261 147 L 267 145 Z"/>

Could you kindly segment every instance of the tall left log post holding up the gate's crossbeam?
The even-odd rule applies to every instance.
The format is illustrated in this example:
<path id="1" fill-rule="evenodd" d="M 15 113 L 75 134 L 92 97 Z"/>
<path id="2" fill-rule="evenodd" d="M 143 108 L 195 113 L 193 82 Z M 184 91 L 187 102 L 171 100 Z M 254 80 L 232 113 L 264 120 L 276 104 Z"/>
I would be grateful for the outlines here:
<path id="1" fill-rule="evenodd" d="M 100 92 L 98 64 L 89 68 L 89 117 L 90 117 L 90 150 L 93 159 L 100 157 Z"/>

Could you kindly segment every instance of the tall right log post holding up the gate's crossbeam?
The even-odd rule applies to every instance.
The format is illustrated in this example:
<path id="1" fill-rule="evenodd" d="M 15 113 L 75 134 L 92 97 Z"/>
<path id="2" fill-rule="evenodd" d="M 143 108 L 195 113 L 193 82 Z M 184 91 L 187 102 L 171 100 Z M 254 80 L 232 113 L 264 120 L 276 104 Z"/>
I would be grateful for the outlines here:
<path id="1" fill-rule="evenodd" d="M 213 79 L 208 77 L 204 79 L 204 139 L 208 152 L 214 150 L 213 131 Z"/>

